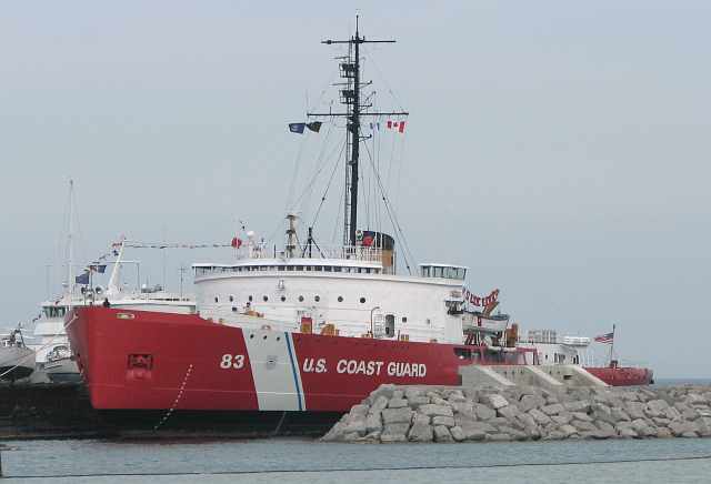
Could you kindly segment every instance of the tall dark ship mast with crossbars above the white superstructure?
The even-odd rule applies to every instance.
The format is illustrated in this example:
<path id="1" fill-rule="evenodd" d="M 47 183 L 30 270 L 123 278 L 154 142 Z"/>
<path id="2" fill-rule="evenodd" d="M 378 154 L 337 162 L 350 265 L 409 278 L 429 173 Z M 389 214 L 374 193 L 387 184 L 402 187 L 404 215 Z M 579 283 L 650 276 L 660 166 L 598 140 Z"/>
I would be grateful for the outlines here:
<path id="1" fill-rule="evenodd" d="M 363 115 L 382 117 L 382 115 L 408 115 L 408 112 L 363 112 L 372 104 L 361 104 L 360 90 L 363 85 L 370 85 L 371 82 L 363 83 L 360 77 L 360 46 L 362 43 L 394 43 L 394 40 L 365 40 L 360 37 L 358 29 L 358 16 L 356 16 L 356 36 L 348 40 L 322 40 L 321 43 L 328 46 L 333 43 L 347 43 L 349 46 L 348 56 L 340 58 L 341 78 L 346 82 L 337 85 L 343 85 L 341 89 L 341 103 L 346 105 L 346 112 L 340 113 L 307 113 L 309 117 L 344 117 L 347 119 L 347 143 L 350 148 L 350 159 L 347 153 L 346 164 L 346 203 L 343 213 L 343 244 L 356 246 L 356 231 L 358 230 L 358 162 L 360 158 L 361 137 L 360 119 Z M 348 150 L 347 150 L 348 151 Z"/>

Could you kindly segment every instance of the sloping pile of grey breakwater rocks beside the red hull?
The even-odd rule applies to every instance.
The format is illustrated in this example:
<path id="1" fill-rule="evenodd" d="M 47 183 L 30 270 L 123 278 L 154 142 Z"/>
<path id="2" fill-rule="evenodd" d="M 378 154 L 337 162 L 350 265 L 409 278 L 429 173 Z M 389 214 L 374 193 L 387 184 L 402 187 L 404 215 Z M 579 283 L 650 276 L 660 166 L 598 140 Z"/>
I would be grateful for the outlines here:
<path id="1" fill-rule="evenodd" d="M 327 442 L 468 442 L 711 436 L 711 386 L 383 385 Z"/>

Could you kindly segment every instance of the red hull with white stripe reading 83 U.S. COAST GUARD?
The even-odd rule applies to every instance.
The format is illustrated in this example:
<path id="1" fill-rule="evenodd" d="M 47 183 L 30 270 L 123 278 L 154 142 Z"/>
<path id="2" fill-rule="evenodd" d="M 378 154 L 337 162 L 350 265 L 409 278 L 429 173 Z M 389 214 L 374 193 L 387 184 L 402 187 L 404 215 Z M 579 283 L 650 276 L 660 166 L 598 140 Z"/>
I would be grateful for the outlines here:
<path id="1" fill-rule="evenodd" d="M 97 410 L 344 412 L 381 384 L 457 385 L 461 365 L 482 363 L 468 357 L 477 346 L 249 330 L 98 306 L 74 309 L 66 327 Z M 483 362 L 523 363 L 523 353 Z"/>

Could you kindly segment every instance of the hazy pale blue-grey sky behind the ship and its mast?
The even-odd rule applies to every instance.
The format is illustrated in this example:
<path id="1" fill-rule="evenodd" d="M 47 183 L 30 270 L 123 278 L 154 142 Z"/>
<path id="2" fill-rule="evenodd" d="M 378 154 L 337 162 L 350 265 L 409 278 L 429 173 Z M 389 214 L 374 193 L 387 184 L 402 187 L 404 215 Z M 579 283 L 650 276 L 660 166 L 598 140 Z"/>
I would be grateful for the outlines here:
<path id="1" fill-rule="evenodd" d="M 47 264 L 59 291 L 70 178 L 82 263 L 122 233 L 223 242 L 241 219 L 271 235 L 294 163 L 298 195 L 327 145 L 286 123 L 336 79 L 339 50 L 319 42 L 351 33 L 343 4 L 3 3 L 0 325 L 37 313 Z M 417 261 L 470 266 L 472 291 L 499 288 L 524 329 L 615 322 L 623 359 L 710 376 L 711 6 L 353 6 L 362 33 L 398 39 L 365 50 L 364 73 L 379 105 L 411 112 L 374 151 Z M 132 256 L 162 280 L 160 255 Z M 169 284 L 213 258 L 230 252 L 170 252 Z"/>

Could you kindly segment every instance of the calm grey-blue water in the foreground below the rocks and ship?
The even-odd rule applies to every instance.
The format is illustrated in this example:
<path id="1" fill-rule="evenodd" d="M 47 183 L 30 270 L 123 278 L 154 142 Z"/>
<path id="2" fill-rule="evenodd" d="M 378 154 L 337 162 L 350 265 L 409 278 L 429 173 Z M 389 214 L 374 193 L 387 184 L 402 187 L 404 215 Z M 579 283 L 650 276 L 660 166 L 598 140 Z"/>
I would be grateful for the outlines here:
<path id="1" fill-rule="evenodd" d="M 3 483 L 711 481 L 711 438 L 451 445 L 303 440 L 6 444 L 10 448 L 2 451 L 2 463 L 10 478 Z"/>

